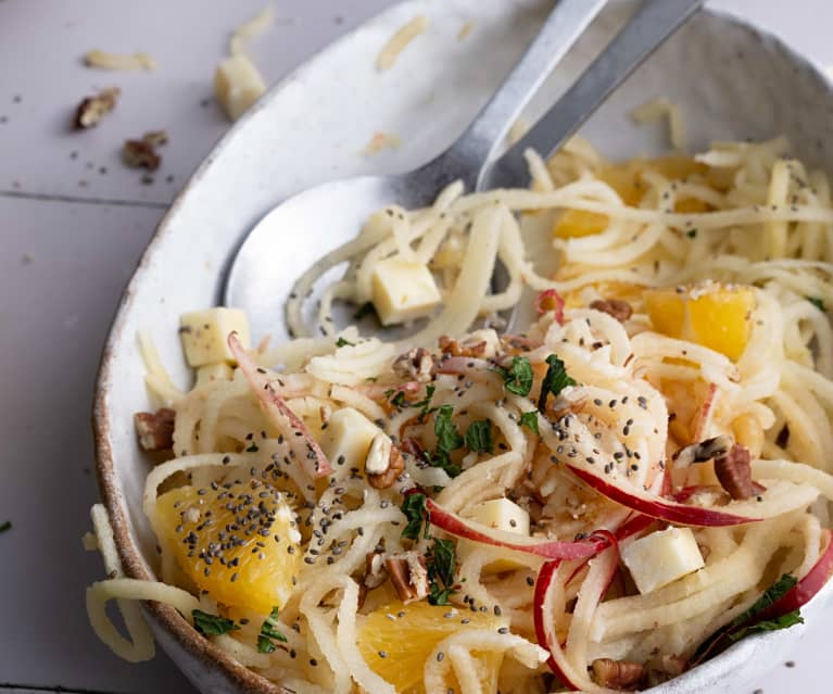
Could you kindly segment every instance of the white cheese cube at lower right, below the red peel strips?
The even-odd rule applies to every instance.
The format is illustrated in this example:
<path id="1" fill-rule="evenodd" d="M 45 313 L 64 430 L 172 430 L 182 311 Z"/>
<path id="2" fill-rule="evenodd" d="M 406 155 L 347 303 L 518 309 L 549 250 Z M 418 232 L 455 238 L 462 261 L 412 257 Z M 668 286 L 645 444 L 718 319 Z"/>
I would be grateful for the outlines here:
<path id="1" fill-rule="evenodd" d="M 622 561 L 643 595 L 705 566 L 691 528 L 673 527 L 627 544 Z"/>

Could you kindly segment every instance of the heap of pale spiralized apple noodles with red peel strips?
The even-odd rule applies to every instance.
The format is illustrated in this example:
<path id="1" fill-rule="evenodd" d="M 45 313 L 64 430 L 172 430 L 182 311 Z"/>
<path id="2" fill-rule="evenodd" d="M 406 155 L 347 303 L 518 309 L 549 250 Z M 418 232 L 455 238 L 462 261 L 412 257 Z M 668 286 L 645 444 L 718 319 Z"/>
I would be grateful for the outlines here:
<path id="1" fill-rule="evenodd" d="M 465 194 L 455 184 L 428 209 L 390 206 L 375 214 L 359 236 L 300 279 L 287 308 L 296 339 L 238 352 L 242 368 L 230 379 L 181 391 L 146 342 L 149 391 L 156 406 L 176 412 L 175 457 L 152 469 L 144 492 L 162 547 L 160 582 L 122 577 L 112 531 L 96 507 L 96 544 L 113 572 L 88 594 L 97 633 L 138 660 L 149 657 L 152 644 L 129 598 L 171 604 L 189 621 L 195 606 L 227 614 L 184 578 L 160 528 L 157 492 L 182 474 L 197 487 L 251 476 L 292 501 L 303 538 L 305 563 L 276 620 L 287 643 L 258 652 L 263 615 L 211 639 L 292 691 L 395 691 L 359 651 L 363 620 L 380 607 L 376 591 L 363 594 L 362 582 L 376 547 L 387 555 L 429 551 L 431 540 L 422 534 L 402 537 L 407 519 L 401 506 L 414 488 L 429 497 L 431 534 L 455 542 L 463 535 L 469 543 L 458 556 L 450 603 L 508 619 L 500 631 L 460 628 L 428 653 L 422 681 L 429 694 L 543 693 L 557 687 L 553 672 L 565 689 L 604 692 L 617 686 L 596 673 L 594 664 L 605 659 L 641 666 L 642 685 L 696 663 L 698 648 L 779 577 L 800 581 L 811 573 L 830 543 L 833 330 L 823 307 L 833 306 L 833 205 L 825 175 L 787 152 L 782 138 L 716 143 L 694 157 L 695 173 L 674 180 L 645 162 L 641 200 L 627 204 L 602 175 L 609 163 L 575 138 L 550 162 L 528 153 L 531 190 Z M 542 269 L 532 261 L 527 227 L 539 247 L 543 229 L 548 245 L 550 229 L 565 211 L 603 215 L 606 223 L 597 234 L 556 238 L 558 268 Z M 392 254 L 429 265 L 442 307 L 404 341 L 364 338 L 353 327 L 337 336 L 328 319 L 333 302 L 370 301 L 374 266 Z M 490 293 L 498 262 L 508 282 Z M 325 291 L 318 325 L 307 325 L 308 290 L 343 263 L 343 277 Z M 705 280 L 754 294 L 745 317 L 750 332 L 737 359 L 661 335 L 646 313 L 645 289 Z M 526 289 L 550 299 L 526 332 L 482 328 L 466 336 L 478 318 L 515 306 Z M 620 320 L 591 307 L 611 298 L 627 299 L 632 314 Z M 311 337 L 319 329 L 324 337 Z M 455 346 L 444 341 L 439 350 L 442 336 L 455 338 Z M 404 373 L 396 357 L 420 346 L 430 351 L 430 369 Z M 539 407 L 553 354 L 576 384 Z M 507 391 L 501 371 L 514 357 L 532 366 L 526 395 Z M 406 449 L 409 439 L 434 450 L 433 417 L 420 420 L 417 408 L 402 406 L 424 400 L 429 386 L 431 407 L 452 406 L 458 431 L 490 422 L 493 453 L 454 453 L 462 471 L 452 477 L 405 451 L 404 470 L 384 489 L 369 485 L 363 469 L 336 460 L 317 459 L 317 483 L 315 468 L 285 463 L 285 436 L 300 429 L 306 436 L 316 426 L 320 431 L 346 406 L 376 422 L 395 446 Z M 302 424 L 285 419 L 278 426 L 261 402 L 264 390 Z M 528 413 L 535 413 L 538 433 Z M 261 431 L 266 438 L 257 434 L 258 451 L 245 452 L 247 436 Z M 711 460 L 689 464 L 679 455 L 721 436 L 750 453 L 761 487 L 749 499 L 729 500 Z M 529 510 L 531 537 L 471 521 L 476 505 L 502 497 Z M 692 528 L 705 566 L 640 594 L 620 553 L 669 519 Z M 321 533 L 324 547 L 316 540 Z M 343 551 L 325 551 L 332 546 Z M 500 559 L 509 559 L 510 568 L 487 570 Z M 109 598 L 119 600 L 132 645 L 106 619 Z M 484 687 L 478 657 L 488 652 L 504 657 Z"/>

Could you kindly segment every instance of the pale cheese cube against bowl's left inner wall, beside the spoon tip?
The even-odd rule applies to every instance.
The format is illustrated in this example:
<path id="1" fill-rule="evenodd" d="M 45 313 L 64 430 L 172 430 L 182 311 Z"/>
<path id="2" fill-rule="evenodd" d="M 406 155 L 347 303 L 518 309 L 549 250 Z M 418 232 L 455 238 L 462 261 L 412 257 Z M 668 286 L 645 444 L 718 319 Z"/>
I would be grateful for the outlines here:
<path id="1" fill-rule="evenodd" d="M 249 349 L 249 320 L 240 308 L 209 308 L 182 314 L 179 318 L 179 337 L 185 358 L 192 367 L 217 362 L 234 364 L 228 349 L 229 332 L 237 331 L 240 342 Z"/>

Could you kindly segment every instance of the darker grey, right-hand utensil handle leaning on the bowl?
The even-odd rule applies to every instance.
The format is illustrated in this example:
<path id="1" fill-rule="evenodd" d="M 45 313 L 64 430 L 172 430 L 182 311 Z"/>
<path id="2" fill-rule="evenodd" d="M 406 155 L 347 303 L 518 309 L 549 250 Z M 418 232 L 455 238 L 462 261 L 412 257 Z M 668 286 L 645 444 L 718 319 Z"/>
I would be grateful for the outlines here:
<path id="1" fill-rule="evenodd" d="M 520 141 L 481 177 L 489 188 L 527 180 L 523 151 L 548 156 L 569 138 L 624 78 L 703 4 L 703 0 L 645 0 L 624 28 Z"/>

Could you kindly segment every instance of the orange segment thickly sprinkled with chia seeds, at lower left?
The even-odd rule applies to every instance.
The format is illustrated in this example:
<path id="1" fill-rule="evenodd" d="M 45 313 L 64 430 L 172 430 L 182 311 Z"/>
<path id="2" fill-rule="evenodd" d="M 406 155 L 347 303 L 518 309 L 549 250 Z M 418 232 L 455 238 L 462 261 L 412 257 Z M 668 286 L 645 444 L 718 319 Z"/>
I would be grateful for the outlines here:
<path id="1" fill-rule="evenodd" d="M 157 501 L 180 568 L 217 602 L 268 615 L 293 590 L 301 563 L 292 510 L 268 484 L 180 487 Z"/>

